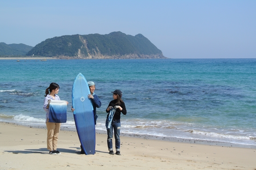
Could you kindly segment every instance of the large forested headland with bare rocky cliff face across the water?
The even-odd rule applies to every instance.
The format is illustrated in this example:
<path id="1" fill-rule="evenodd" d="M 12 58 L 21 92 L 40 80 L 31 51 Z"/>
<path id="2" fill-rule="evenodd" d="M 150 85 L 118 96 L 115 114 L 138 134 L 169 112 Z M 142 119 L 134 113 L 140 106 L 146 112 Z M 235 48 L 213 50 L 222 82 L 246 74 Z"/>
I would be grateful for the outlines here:
<path id="1" fill-rule="evenodd" d="M 126 35 L 120 31 L 107 35 L 64 35 L 46 39 L 26 55 L 33 54 L 70 59 L 166 58 L 143 35 Z"/>

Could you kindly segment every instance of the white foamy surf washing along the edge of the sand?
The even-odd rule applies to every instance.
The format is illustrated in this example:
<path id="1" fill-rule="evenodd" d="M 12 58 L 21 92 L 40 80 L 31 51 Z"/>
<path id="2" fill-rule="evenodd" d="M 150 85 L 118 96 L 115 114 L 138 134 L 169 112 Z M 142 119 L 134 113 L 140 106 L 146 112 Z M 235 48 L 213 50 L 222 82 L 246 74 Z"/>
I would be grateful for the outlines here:
<path id="1" fill-rule="evenodd" d="M 105 133 L 105 119 L 102 113 L 99 113 L 98 116 L 99 117 L 96 124 L 96 131 Z M 71 114 L 68 114 L 68 120 L 66 123 L 62 124 L 62 127 L 71 131 L 75 131 L 75 122 L 72 117 L 73 116 Z M 19 114 L 16 116 L 0 114 L 0 121 L 33 127 L 45 126 L 45 118 L 35 118 L 32 116 L 26 116 L 24 114 Z M 246 136 L 248 132 L 242 129 L 240 129 L 240 131 L 243 131 L 243 133 L 240 134 L 236 132 L 237 129 L 226 129 L 226 132 L 224 132 L 223 128 L 218 128 L 215 130 L 215 132 L 213 130 L 211 132 L 208 132 L 207 129 L 200 128 L 201 126 L 195 126 L 193 124 L 181 124 L 173 121 L 169 122 L 167 120 L 145 121 L 125 118 L 122 118 L 121 124 L 121 133 L 123 133 L 125 136 L 138 135 L 139 137 L 146 136 L 147 138 L 150 139 L 161 139 L 170 141 L 180 140 L 187 141 L 190 143 L 224 143 L 224 145 L 228 146 L 256 146 L 254 144 L 255 138 L 252 136 Z M 231 134 L 231 131 L 234 131 L 233 134 Z"/>

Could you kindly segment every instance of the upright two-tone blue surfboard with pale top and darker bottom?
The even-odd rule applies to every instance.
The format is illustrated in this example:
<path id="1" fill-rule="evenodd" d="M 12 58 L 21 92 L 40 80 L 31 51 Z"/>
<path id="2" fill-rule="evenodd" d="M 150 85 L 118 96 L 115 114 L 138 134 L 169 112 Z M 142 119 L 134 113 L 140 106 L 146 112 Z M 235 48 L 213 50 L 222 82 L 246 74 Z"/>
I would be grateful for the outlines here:
<path id="1" fill-rule="evenodd" d="M 90 94 L 88 83 L 83 74 L 79 73 L 72 87 L 72 107 L 76 124 L 76 131 L 81 143 L 81 148 L 86 155 L 95 153 L 95 123 L 91 100 L 87 97 Z"/>

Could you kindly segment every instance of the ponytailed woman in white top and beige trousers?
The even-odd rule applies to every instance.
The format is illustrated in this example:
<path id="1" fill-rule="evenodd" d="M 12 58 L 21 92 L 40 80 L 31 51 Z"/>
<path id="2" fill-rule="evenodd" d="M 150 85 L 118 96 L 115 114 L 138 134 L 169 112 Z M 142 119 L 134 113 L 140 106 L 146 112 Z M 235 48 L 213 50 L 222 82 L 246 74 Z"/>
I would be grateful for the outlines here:
<path id="1" fill-rule="evenodd" d="M 60 86 L 57 83 L 51 83 L 50 86 L 45 90 L 44 98 L 44 110 L 46 112 L 46 127 L 47 127 L 47 149 L 51 155 L 60 155 L 57 151 L 58 135 L 60 132 L 60 123 L 49 122 L 49 106 L 51 100 L 60 100 L 60 97 L 56 94 L 59 93 Z M 68 104 L 68 102 L 67 102 Z"/>

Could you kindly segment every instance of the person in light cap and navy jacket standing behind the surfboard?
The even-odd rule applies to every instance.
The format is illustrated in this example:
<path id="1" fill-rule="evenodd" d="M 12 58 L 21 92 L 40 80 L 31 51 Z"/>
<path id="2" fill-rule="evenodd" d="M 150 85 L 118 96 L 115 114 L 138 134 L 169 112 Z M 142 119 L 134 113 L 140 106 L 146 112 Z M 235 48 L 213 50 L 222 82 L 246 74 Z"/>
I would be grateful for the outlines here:
<path id="1" fill-rule="evenodd" d="M 94 123 L 96 124 L 96 120 L 98 118 L 97 114 L 96 114 L 96 107 L 97 108 L 100 108 L 101 106 L 101 101 L 99 99 L 99 97 L 94 93 L 95 91 L 95 83 L 93 81 L 88 81 L 88 86 L 89 86 L 89 89 L 90 89 L 90 93 L 91 94 L 88 94 L 88 98 L 91 99 L 92 101 L 92 107 L 93 107 L 93 112 L 94 112 Z M 71 108 L 71 111 L 74 112 L 74 108 Z M 81 146 L 80 146 L 81 147 Z M 81 147 L 81 154 L 85 154 L 82 147 Z"/>

